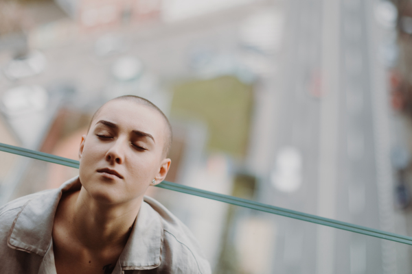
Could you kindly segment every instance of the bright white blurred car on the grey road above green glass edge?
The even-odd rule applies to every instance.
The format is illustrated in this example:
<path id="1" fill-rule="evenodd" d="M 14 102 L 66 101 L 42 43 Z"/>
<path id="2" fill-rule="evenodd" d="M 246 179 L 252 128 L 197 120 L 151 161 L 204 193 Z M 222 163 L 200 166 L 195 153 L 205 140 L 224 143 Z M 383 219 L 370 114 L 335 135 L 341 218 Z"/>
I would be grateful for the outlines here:
<path id="1" fill-rule="evenodd" d="M 301 153 L 295 147 L 284 147 L 277 153 L 271 183 L 282 192 L 295 192 L 301 186 L 301 169 Z"/>

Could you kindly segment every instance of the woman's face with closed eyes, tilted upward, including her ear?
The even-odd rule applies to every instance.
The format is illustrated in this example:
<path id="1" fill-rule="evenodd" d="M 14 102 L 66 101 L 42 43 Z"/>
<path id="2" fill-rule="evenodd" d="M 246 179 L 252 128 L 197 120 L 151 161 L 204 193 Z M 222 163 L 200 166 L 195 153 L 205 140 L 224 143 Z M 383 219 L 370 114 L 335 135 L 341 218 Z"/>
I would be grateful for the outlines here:
<path id="1" fill-rule="evenodd" d="M 163 157 L 166 124 L 159 112 L 133 101 L 104 105 L 80 144 L 80 182 L 93 199 L 107 204 L 143 198 L 153 179 L 170 166 Z"/>

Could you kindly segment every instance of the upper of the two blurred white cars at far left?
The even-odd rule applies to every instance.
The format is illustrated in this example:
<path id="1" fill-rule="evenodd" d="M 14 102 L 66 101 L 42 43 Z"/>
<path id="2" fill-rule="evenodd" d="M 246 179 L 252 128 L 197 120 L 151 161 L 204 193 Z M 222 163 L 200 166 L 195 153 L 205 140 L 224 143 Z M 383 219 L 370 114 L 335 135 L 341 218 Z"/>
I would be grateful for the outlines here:
<path id="1" fill-rule="evenodd" d="M 40 51 L 31 51 L 14 58 L 5 67 L 3 73 L 9 79 L 20 79 L 41 73 L 46 66 L 46 58 Z"/>

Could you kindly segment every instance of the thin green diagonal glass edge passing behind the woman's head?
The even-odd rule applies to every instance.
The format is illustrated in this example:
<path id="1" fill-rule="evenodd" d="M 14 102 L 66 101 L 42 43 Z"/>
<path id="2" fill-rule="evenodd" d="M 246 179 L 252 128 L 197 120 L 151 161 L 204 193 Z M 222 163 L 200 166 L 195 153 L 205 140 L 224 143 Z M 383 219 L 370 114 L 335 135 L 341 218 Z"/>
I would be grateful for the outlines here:
<path id="1" fill-rule="evenodd" d="M 54 164 L 62 164 L 64 166 L 70 166 L 76 169 L 79 168 L 79 162 L 76 160 L 70 160 L 67 158 L 62 158 L 62 157 L 48 154 L 48 153 L 32 151 L 30 149 L 23 149 L 21 147 L 14 147 L 12 145 L 5 145 L 5 144 L 0 143 L 0 151 L 22 155 L 22 156 L 34 158 L 37 160 L 43 160 L 46 162 L 52 162 Z M 385 240 L 391 240 L 394 242 L 402 242 L 407 245 L 412 245 L 412 237 L 394 234 L 390 232 L 384 232 L 379 229 L 372 229 L 369 227 L 363 227 L 361 225 L 354 225 L 352 223 L 336 221 L 333 219 L 323 218 L 323 217 L 312 215 L 312 214 L 306 214 L 306 213 L 295 211 L 295 210 L 288 210 L 286 208 L 279 208 L 276 206 L 266 205 L 265 203 L 258 203 L 256 201 L 250 201 L 247 199 L 241 199 L 238 197 L 223 195 L 223 194 L 219 194 L 216 192 L 201 190 L 198 188 L 192 188 L 190 186 L 183 186 L 180 184 L 175 184 L 175 183 L 167 182 L 167 181 L 163 181 L 161 182 L 161 184 L 158 184 L 157 186 L 159 188 L 165 188 L 168 190 L 174 190 L 174 191 L 182 192 L 185 194 L 190 194 L 190 195 L 195 195 L 198 197 L 221 201 L 223 203 L 231 203 L 232 205 L 235 205 L 235 206 L 251 208 L 253 210 L 259 210 L 262 212 L 268 212 L 271 214 L 286 216 L 288 218 L 293 218 L 293 219 L 297 219 L 301 221 L 307 221 L 310 223 L 316 223 L 318 225 L 325 225 L 328 227 L 334 227 L 337 229 L 347 230 L 349 232 L 364 234 L 367 236 L 372 236 L 376 238 L 382 238 Z"/>

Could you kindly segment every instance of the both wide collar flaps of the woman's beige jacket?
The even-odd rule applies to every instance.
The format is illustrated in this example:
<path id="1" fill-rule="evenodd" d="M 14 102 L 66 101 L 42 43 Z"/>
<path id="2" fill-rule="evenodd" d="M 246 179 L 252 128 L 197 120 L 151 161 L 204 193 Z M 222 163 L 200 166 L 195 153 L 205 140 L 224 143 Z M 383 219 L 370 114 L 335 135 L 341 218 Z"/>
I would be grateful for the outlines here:
<path id="1" fill-rule="evenodd" d="M 40 192 L 28 200 L 10 228 L 8 246 L 45 256 L 52 242 L 54 215 L 62 193 L 80 190 L 81 186 L 80 179 L 76 176 L 56 190 Z M 161 264 L 163 246 L 161 217 L 146 202 L 141 203 L 138 216 L 119 257 L 123 270 L 154 269 Z"/>

